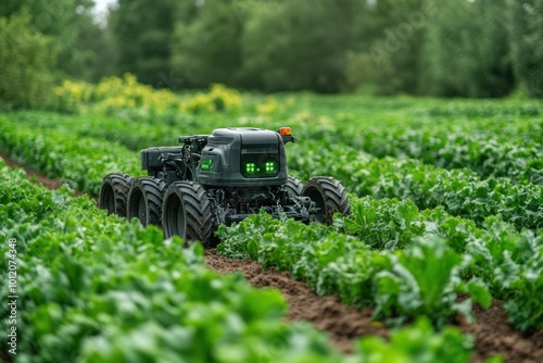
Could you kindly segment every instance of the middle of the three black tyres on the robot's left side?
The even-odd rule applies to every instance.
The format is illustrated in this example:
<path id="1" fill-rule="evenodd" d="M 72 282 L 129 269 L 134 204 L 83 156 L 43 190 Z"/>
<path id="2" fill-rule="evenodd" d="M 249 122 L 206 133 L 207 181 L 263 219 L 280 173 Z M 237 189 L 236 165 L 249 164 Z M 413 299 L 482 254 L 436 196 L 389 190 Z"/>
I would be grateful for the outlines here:
<path id="1" fill-rule="evenodd" d="M 166 184 L 152 176 L 142 176 L 134 179 L 128 193 L 128 220 L 137 217 L 143 226 L 161 225 L 162 199 Z"/>

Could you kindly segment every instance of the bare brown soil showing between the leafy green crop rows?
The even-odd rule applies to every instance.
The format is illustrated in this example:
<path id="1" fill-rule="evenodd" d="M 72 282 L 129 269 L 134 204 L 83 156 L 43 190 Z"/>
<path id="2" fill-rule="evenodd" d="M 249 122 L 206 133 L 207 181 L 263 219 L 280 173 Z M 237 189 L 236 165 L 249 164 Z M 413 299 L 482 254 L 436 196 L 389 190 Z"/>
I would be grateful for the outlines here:
<path id="1" fill-rule="evenodd" d="M 62 186 L 59 179 L 50 179 L 43 174 L 13 162 L 5 154 L 0 157 L 10 166 L 25 170 L 29 177 L 50 189 Z M 78 192 L 77 195 L 80 195 Z M 275 270 L 264 270 L 254 261 L 230 260 L 217 253 L 215 249 L 205 251 L 207 266 L 220 274 L 241 272 L 255 287 L 274 287 L 279 289 L 289 304 L 288 321 L 307 321 L 318 329 L 326 331 L 338 349 L 345 353 L 352 352 L 352 341 L 365 335 L 387 337 L 389 330 L 381 324 L 371 321 L 371 310 L 357 310 L 348 306 L 334 297 L 318 297 L 302 281 L 294 280 L 289 273 Z M 507 321 L 506 313 L 500 301 L 484 310 L 475 306 L 476 324 L 468 324 L 457 318 L 457 325 L 476 338 L 473 362 L 501 354 L 504 362 L 528 363 L 543 362 L 543 329 L 529 336 L 522 336 Z M 0 355 L 1 356 L 1 355 Z M 7 356 L 1 356 L 5 361 Z M 9 358 L 8 358 L 9 359 Z"/>

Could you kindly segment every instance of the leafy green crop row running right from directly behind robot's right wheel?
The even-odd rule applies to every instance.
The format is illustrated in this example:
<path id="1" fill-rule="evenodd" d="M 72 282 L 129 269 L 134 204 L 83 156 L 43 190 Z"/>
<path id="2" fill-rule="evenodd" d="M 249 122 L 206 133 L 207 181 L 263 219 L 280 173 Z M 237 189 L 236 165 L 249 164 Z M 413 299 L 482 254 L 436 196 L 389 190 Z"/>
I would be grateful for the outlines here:
<path id="1" fill-rule="evenodd" d="M 411 199 L 421 210 L 441 205 L 478 225 L 498 215 L 519 229 L 543 227 L 540 185 L 481 179 L 467 168 L 444 170 L 412 159 L 377 159 L 344 145 L 300 142 L 288 152 L 289 167 L 301 178 L 333 175 L 359 197 Z"/>

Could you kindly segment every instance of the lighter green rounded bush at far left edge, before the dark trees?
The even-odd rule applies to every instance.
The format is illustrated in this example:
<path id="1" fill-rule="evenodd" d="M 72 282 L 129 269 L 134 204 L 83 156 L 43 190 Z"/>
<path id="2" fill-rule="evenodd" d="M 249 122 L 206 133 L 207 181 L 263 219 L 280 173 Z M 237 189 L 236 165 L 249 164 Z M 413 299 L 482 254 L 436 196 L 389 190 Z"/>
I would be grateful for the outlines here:
<path id="1" fill-rule="evenodd" d="M 1 13 L 0 13 L 1 14 Z M 0 17 L 0 105 L 42 107 L 52 90 L 51 38 L 29 27 L 27 13 Z"/>

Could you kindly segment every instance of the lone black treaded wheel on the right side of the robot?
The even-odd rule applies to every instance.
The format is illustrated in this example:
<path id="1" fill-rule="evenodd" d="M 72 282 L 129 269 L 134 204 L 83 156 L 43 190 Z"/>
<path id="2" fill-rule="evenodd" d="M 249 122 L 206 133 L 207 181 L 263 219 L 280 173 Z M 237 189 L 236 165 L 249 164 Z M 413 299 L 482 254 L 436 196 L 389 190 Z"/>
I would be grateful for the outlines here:
<path id="1" fill-rule="evenodd" d="M 351 210 L 345 188 L 329 176 L 316 176 L 307 180 L 302 196 L 308 197 L 317 204 L 317 213 L 313 214 L 313 222 L 331 225 L 334 213 L 346 215 Z"/>

